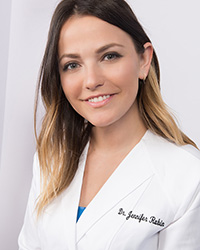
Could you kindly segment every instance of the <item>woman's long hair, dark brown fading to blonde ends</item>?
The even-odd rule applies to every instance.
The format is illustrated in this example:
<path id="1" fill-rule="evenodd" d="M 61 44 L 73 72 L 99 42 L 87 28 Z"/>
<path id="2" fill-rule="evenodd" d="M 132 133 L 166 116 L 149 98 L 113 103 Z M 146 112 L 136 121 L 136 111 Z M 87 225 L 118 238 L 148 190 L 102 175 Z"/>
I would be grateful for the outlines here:
<path id="1" fill-rule="evenodd" d="M 73 15 L 91 15 L 127 32 L 137 53 L 144 53 L 144 44 L 151 42 L 135 14 L 124 0 L 63 0 L 52 17 L 43 57 L 35 105 L 39 92 L 46 110 L 37 151 L 41 166 L 42 191 L 37 203 L 38 214 L 66 189 L 73 180 L 80 156 L 86 146 L 92 124 L 85 123 L 66 99 L 61 87 L 58 65 L 58 42 L 64 23 Z M 149 74 L 139 80 L 137 96 L 140 115 L 148 129 L 179 145 L 196 146 L 176 125 L 160 94 L 160 71 L 155 51 Z"/>

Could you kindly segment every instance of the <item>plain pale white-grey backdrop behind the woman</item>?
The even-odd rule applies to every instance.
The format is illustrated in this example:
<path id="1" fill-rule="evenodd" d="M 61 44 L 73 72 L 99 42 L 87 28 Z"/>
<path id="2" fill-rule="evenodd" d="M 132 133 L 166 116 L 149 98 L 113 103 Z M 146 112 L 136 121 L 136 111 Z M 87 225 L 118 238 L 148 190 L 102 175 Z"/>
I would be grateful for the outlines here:
<path id="1" fill-rule="evenodd" d="M 198 0 L 129 0 L 161 65 L 164 100 L 200 146 Z M 17 237 L 35 151 L 33 103 L 50 17 L 58 0 L 0 0 L 0 246 Z M 2 14 L 3 13 L 3 14 Z"/>

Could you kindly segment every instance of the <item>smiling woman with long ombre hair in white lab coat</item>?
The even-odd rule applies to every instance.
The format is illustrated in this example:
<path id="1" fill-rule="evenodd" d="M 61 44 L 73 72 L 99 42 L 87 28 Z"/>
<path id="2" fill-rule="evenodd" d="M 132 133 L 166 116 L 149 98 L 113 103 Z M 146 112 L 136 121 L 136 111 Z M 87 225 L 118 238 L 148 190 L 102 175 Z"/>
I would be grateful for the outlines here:
<path id="1" fill-rule="evenodd" d="M 200 249 L 200 154 L 167 111 L 125 1 L 60 2 L 38 89 L 21 250 Z"/>

